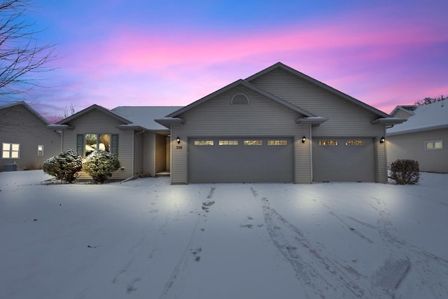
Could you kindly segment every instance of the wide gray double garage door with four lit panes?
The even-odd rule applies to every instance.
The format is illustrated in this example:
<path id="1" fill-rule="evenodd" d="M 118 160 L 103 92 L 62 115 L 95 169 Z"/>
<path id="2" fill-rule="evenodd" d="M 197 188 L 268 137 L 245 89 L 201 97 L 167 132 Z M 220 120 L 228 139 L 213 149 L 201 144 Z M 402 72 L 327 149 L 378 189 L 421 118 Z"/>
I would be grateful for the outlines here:
<path id="1" fill-rule="evenodd" d="M 292 138 L 189 139 L 191 183 L 293 181 Z"/>

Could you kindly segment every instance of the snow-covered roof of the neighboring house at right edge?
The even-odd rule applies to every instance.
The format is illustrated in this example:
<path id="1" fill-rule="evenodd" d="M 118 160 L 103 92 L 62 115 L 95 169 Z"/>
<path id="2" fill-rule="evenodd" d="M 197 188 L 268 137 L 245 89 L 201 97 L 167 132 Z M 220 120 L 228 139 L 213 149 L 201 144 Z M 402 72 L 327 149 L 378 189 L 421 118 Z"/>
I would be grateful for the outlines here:
<path id="1" fill-rule="evenodd" d="M 448 99 L 433 104 L 416 106 L 406 123 L 387 129 L 388 135 L 420 132 L 448 127 Z"/>

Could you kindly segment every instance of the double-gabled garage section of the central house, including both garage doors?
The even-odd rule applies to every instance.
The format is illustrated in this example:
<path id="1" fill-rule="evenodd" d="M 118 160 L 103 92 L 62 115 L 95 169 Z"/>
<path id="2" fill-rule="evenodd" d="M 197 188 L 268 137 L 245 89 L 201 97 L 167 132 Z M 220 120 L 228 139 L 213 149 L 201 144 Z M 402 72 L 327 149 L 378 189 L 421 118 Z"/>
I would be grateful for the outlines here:
<path id="1" fill-rule="evenodd" d="M 387 181 L 387 113 L 277 63 L 156 120 L 172 183 Z"/>

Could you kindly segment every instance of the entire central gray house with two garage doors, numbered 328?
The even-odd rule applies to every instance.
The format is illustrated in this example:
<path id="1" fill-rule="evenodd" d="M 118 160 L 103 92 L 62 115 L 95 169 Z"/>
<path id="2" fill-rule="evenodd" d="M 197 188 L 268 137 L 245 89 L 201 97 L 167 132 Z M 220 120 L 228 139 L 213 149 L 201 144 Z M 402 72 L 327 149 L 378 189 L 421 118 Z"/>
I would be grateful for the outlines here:
<path id="1" fill-rule="evenodd" d="M 386 183 L 381 137 L 402 121 L 277 63 L 185 107 L 92 105 L 48 127 L 62 150 L 118 154 L 113 179 Z"/>

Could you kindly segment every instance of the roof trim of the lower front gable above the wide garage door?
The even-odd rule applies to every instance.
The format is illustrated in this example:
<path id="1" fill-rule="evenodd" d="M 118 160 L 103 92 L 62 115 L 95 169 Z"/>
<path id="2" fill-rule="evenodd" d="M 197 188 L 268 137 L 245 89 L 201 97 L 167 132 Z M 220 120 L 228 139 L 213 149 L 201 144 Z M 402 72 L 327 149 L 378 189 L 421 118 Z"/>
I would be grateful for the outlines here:
<path id="1" fill-rule="evenodd" d="M 297 113 L 300 113 L 307 117 L 316 117 L 313 113 L 306 111 L 304 109 L 301 109 L 300 107 L 297 107 L 290 102 L 281 99 L 279 97 L 276 97 L 275 95 L 272 95 L 272 93 L 267 92 L 266 90 L 262 90 L 261 88 L 258 88 L 258 86 L 253 85 L 252 83 L 239 79 L 235 81 L 234 83 L 231 83 L 220 90 L 217 90 L 216 92 L 211 93 L 210 95 L 207 95 L 206 97 L 203 97 L 202 99 L 198 99 L 196 102 L 193 102 L 192 104 L 189 104 L 188 106 L 185 106 L 177 111 L 174 111 L 173 113 L 170 113 L 167 115 L 168 118 L 176 118 L 182 113 L 185 113 L 186 111 L 190 111 L 191 109 L 195 108 L 196 106 L 199 106 L 200 104 L 203 104 L 204 102 L 207 102 L 209 99 L 212 99 L 214 97 L 217 97 L 218 95 L 222 95 L 224 92 L 227 92 L 228 90 L 231 90 L 232 88 L 236 88 L 237 86 L 242 85 L 245 88 L 248 88 L 250 90 L 253 90 L 254 92 L 258 92 L 260 95 L 264 95 L 268 99 L 271 99 L 274 102 L 277 102 L 278 104 L 281 104 L 285 106 L 288 109 L 291 109 Z"/>

